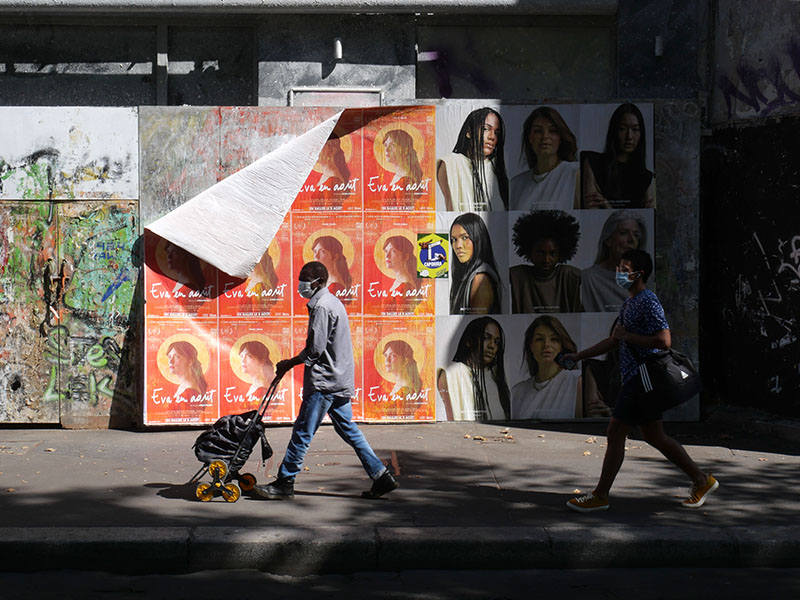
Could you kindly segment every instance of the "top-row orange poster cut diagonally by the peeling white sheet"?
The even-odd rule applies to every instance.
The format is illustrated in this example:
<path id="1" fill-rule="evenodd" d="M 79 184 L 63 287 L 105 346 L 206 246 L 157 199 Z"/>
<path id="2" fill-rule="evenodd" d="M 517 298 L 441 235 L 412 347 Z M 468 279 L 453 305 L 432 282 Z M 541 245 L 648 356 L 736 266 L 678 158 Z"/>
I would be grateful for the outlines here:
<path id="1" fill-rule="evenodd" d="M 292 205 L 295 210 L 348 211 L 363 208 L 362 111 L 342 114 L 317 164 Z"/>

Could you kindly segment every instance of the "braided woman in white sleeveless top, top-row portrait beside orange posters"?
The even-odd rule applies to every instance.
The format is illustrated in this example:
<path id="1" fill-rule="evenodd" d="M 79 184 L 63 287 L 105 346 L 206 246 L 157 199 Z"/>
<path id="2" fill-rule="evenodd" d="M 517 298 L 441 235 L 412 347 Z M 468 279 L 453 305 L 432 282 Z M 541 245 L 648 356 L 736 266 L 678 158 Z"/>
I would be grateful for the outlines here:
<path id="1" fill-rule="evenodd" d="M 508 209 L 504 144 L 500 113 L 484 107 L 467 115 L 453 151 L 436 161 L 436 181 L 446 210 Z"/>

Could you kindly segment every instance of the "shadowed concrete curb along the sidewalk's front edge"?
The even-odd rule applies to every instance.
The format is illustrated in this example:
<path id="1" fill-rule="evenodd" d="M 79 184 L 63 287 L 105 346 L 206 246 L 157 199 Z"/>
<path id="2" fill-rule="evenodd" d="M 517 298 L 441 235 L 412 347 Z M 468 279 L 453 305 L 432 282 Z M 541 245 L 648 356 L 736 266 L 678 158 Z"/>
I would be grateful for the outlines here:
<path id="1" fill-rule="evenodd" d="M 0 528 L 1 571 L 800 567 L 800 526 Z"/>

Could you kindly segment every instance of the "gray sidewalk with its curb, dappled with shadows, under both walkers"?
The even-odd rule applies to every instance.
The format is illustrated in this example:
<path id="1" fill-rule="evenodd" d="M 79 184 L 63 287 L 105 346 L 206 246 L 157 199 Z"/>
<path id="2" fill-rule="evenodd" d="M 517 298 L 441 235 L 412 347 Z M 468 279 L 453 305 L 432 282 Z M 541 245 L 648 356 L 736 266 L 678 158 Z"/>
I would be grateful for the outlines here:
<path id="1" fill-rule="evenodd" d="M 800 445 L 724 421 L 666 428 L 720 480 L 701 509 L 682 508 L 683 474 L 630 439 L 610 510 L 568 511 L 599 475 L 599 423 L 363 426 L 401 485 L 379 500 L 360 498 L 370 481 L 325 426 L 293 502 L 235 503 L 183 485 L 199 431 L 0 429 L 0 570 L 800 566 Z M 290 432 L 268 430 L 269 475 L 256 458 L 245 469 L 259 483 Z"/>

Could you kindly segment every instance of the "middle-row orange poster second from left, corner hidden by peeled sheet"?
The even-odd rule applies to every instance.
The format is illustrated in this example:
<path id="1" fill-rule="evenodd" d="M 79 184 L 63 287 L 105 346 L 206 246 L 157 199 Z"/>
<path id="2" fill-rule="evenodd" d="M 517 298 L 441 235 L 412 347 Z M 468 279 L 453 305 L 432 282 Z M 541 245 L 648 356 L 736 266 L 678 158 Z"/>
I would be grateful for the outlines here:
<path id="1" fill-rule="evenodd" d="M 289 216 L 245 280 L 219 274 L 219 313 L 232 317 L 288 316 L 292 311 L 292 242 Z"/>

